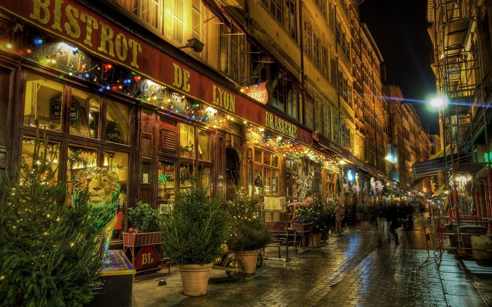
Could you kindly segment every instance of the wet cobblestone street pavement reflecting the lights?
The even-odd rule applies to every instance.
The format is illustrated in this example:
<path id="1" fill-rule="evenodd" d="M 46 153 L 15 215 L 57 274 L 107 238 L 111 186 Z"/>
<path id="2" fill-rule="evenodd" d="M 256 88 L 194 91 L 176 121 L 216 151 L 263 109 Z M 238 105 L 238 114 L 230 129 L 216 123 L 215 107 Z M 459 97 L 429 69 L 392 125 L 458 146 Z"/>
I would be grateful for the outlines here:
<path id="1" fill-rule="evenodd" d="M 202 297 L 185 297 L 179 274 L 157 289 L 155 283 L 137 282 L 133 306 L 488 306 L 477 282 L 462 272 L 462 262 L 448 254 L 446 263 L 428 257 L 421 221 L 408 235 L 400 228 L 398 244 L 369 227 L 330 238 L 324 247 L 286 263 L 268 260 L 258 275 L 242 281 L 221 272 L 211 276 Z"/>

